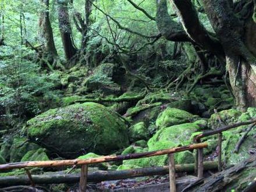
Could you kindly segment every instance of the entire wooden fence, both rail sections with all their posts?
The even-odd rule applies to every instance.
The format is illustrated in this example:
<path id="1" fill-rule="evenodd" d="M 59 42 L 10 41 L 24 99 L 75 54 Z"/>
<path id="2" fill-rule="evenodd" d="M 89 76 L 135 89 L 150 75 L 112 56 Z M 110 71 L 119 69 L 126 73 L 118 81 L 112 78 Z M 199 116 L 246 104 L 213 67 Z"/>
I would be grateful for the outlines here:
<path id="1" fill-rule="evenodd" d="M 198 179 L 203 177 L 204 165 L 203 165 L 203 148 L 208 147 L 207 143 L 201 143 L 201 138 L 212 136 L 214 134 L 219 135 L 218 139 L 218 169 L 222 169 L 222 132 L 233 129 L 235 127 L 250 125 L 243 137 L 246 137 L 248 131 L 250 131 L 256 125 L 256 119 L 240 122 L 233 125 L 228 125 L 221 127 L 220 129 L 205 131 L 204 133 L 198 134 L 194 137 L 194 144 L 186 145 L 182 147 L 169 148 L 166 150 L 158 150 L 151 152 L 143 152 L 138 154 L 128 154 L 128 155 L 109 155 L 99 158 L 90 158 L 90 159 L 73 159 L 73 160 L 59 160 L 59 161 L 29 161 L 29 162 L 17 162 L 17 163 L 7 163 L 0 165 L 0 170 L 9 170 L 9 169 L 20 169 L 28 167 L 55 167 L 55 166 L 70 166 L 70 165 L 81 165 L 80 172 L 80 182 L 79 190 L 81 192 L 86 191 L 87 186 L 87 176 L 88 176 L 88 165 L 93 163 L 102 163 L 109 161 L 123 161 L 128 159 L 139 159 L 154 157 L 157 155 L 169 155 L 169 182 L 170 182 L 170 191 L 176 191 L 176 179 L 175 179 L 175 161 L 174 154 L 177 152 L 187 151 L 187 150 L 197 150 L 195 155 L 195 172 L 197 173 Z M 240 143 L 240 141 L 239 141 Z M 29 175 L 29 174 L 28 174 Z M 31 175 L 30 175 L 31 176 Z"/>

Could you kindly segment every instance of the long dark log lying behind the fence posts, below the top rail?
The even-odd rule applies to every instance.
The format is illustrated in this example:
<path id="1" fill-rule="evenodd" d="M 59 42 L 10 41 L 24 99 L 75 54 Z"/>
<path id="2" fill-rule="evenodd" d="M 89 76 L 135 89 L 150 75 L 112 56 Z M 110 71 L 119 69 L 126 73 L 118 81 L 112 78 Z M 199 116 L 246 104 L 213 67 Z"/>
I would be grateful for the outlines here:
<path id="1" fill-rule="evenodd" d="M 204 162 L 204 170 L 213 170 L 218 168 L 216 161 Z M 175 165 L 175 172 L 194 172 L 194 163 Z M 120 180 L 131 177 L 152 176 L 152 175 L 166 175 L 169 173 L 169 166 L 152 167 L 152 168 L 139 168 L 130 170 L 112 170 L 112 171 L 99 171 L 89 172 L 88 182 L 102 182 L 105 180 Z M 65 174 L 65 173 L 51 173 L 44 175 L 32 175 L 34 184 L 58 184 L 58 183 L 78 183 L 80 174 Z M 29 185 L 31 180 L 27 175 L 7 176 L 0 177 L 0 186 L 17 186 Z"/>

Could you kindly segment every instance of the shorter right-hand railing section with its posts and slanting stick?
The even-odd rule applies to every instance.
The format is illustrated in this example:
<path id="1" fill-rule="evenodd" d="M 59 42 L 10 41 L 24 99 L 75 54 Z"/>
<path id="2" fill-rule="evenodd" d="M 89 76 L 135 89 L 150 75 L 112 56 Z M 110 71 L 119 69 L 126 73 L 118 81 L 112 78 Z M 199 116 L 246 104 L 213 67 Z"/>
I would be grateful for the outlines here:
<path id="1" fill-rule="evenodd" d="M 239 148 L 239 145 L 243 141 L 243 138 L 246 137 L 246 134 L 248 133 L 248 131 L 250 131 L 256 125 L 256 119 L 248 120 L 246 122 L 234 123 L 233 125 L 223 126 L 219 129 L 215 129 L 212 131 L 204 131 L 203 133 L 198 134 L 197 136 L 194 137 L 194 143 L 195 144 L 201 143 L 201 138 L 218 134 L 218 170 L 221 171 L 222 170 L 222 132 L 230 129 L 234 129 L 236 127 L 243 126 L 243 125 L 251 125 L 251 126 L 248 127 L 246 133 L 243 135 L 243 137 L 241 137 L 241 139 L 237 143 L 238 147 L 236 147 L 236 152 L 238 152 L 237 148 Z M 195 172 L 198 173 L 198 178 L 201 178 L 203 174 L 203 170 L 201 169 L 202 159 L 203 159 L 202 152 L 203 152 L 202 148 L 198 149 L 195 155 Z"/>

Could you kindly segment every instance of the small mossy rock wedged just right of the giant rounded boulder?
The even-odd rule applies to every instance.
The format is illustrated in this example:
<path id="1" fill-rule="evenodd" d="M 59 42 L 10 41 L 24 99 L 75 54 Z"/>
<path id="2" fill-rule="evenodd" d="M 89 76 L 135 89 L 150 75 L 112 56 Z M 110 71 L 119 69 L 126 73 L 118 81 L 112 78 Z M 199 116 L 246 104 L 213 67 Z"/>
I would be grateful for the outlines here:
<path id="1" fill-rule="evenodd" d="M 145 123 L 140 122 L 129 128 L 129 136 L 131 141 L 148 140 L 150 133 Z"/>

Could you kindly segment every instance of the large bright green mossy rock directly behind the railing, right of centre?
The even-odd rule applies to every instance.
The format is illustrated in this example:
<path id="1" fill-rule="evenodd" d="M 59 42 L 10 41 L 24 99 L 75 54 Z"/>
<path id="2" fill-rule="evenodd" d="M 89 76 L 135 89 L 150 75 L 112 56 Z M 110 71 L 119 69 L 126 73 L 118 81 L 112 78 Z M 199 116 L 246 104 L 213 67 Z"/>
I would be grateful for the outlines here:
<path id="1" fill-rule="evenodd" d="M 154 134 L 148 141 L 148 151 L 163 150 L 166 148 L 178 147 L 180 145 L 188 145 L 191 143 L 191 134 L 201 131 L 207 125 L 206 120 L 197 120 L 194 123 L 183 123 L 180 125 L 162 128 Z M 134 152 L 133 148 L 127 148 L 130 152 Z M 175 154 L 175 162 L 193 163 L 194 157 L 192 152 L 184 151 Z M 123 161 L 123 165 L 136 165 L 141 167 L 163 166 L 167 165 L 168 156 L 160 155 L 151 158 L 132 159 Z"/>

